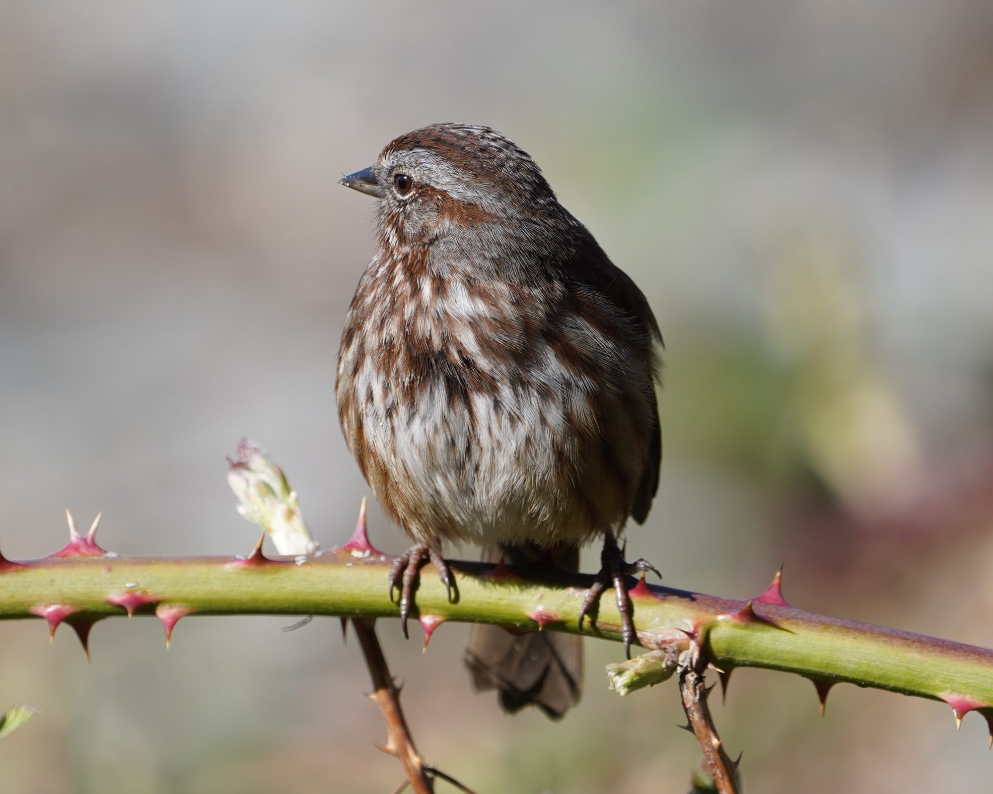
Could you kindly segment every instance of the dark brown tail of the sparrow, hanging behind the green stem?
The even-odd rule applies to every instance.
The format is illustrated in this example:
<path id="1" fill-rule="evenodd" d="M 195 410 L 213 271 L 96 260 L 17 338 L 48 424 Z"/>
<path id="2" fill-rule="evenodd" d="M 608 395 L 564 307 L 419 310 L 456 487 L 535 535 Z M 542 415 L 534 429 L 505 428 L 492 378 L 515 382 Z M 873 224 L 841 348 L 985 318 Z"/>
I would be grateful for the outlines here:
<path id="1" fill-rule="evenodd" d="M 509 565 L 536 561 L 536 546 L 487 549 L 483 561 L 502 557 Z M 555 562 L 568 571 L 579 570 L 579 549 L 554 550 Z M 537 706 L 552 719 L 562 717 L 579 702 L 583 690 L 583 638 L 557 631 L 508 633 L 498 626 L 474 625 L 466 645 L 466 666 L 477 692 L 498 690 L 499 705 L 513 714 Z"/>

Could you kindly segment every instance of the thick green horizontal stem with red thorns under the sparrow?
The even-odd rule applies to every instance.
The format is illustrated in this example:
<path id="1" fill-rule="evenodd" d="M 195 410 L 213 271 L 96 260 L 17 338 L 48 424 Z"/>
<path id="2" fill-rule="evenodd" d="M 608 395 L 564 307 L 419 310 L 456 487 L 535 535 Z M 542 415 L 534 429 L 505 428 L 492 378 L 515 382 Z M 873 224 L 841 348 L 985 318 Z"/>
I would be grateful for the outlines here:
<path id="1" fill-rule="evenodd" d="M 168 645 L 187 615 L 272 614 L 397 617 L 387 592 L 391 558 L 372 548 L 359 522 L 345 546 L 315 557 L 268 558 L 259 542 L 247 557 L 118 557 L 71 531 L 50 557 L 13 562 L 0 554 L 0 619 L 42 617 L 54 636 L 66 622 L 86 650 L 104 617 L 151 615 Z M 264 536 L 263 536 L 264 538 Z M 553 630 L 621 639 L 614 598 L 579 629 L 579 610 L 593 579 L 536 564 L 509 568 L 451 562 L 449 601 L 429 565 L 416 601 L 424 646 L 443 622 L 480 622 L 515 631 Z M 993 651 L 868 623 L 826 617 L 786 603 L 780 573 L 762 595 L 721 598 L 648 586 L 631 591 L 638 642 L 669 658 L 693 650 L 721 671 L 764 667 L 814 682 L 823 702 L 839 682 L 944 701 L 957 723 L 978 711 L 993 745 Z M 656 654 L 659 655 L 659 654 Z"/>

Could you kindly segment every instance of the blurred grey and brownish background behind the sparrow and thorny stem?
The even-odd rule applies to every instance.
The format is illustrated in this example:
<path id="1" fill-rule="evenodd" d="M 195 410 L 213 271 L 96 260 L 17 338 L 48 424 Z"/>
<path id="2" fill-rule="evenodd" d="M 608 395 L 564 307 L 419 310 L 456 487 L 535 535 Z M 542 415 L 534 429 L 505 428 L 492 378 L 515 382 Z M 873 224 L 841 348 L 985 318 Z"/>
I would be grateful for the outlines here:
<path id="1" fill-rule="evenodd" d="M 0 539 L 246 552 L 224 456 L 265 445 L 325 546 L 366 492 L 334 362 L 373 246 L 337 185 L 394 136 L 489 124 L 648 296 L 665 461 L 631 550 L 744 597 L 993 646 L 993 5 L 0 2 Z M 403 539 L 370 512 L 378 545 Z M 459 553 L 453 551 L 453 553 Z M 475 550 L 461 554 L 474 556 Z M 595 567 L 588 552 L 586 568 Z M 0 626 L 10 792 L 388 792 L 399 765 L 337 620 Z M 683 792 L 676 692 L 501 715 L 383 622 L 429 761 L 481 792 Z M 976 790 L 986 727 L 739 671 L 752 791 Z"/>

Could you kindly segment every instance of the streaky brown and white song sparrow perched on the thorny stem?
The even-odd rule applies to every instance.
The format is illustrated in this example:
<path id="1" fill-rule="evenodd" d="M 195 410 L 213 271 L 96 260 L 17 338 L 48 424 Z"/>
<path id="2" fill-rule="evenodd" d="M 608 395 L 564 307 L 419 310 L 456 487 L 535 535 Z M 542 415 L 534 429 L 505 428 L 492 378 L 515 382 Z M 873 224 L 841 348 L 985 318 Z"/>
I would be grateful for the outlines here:
<path id="1" fill-rule="evenodd" d="M 403 635 L 418 570 L 442 544 L 508 562 L 602 538 L 583 606 L 614 586 L 635 639 L 617 537 L 658 485 L 658 326 L 634 281 L 555 199 L 531 158 L 488 127 L 435 124 L 342 184 L 377 200 L 378 244 L 338 361 L 349 449 L 416 545 L 397 558 Z M 583 618 L 580 617 L 582 624 Z M 478 689 L 560 716 L 579 698 L 580 638 L 474 626 Z"/>

